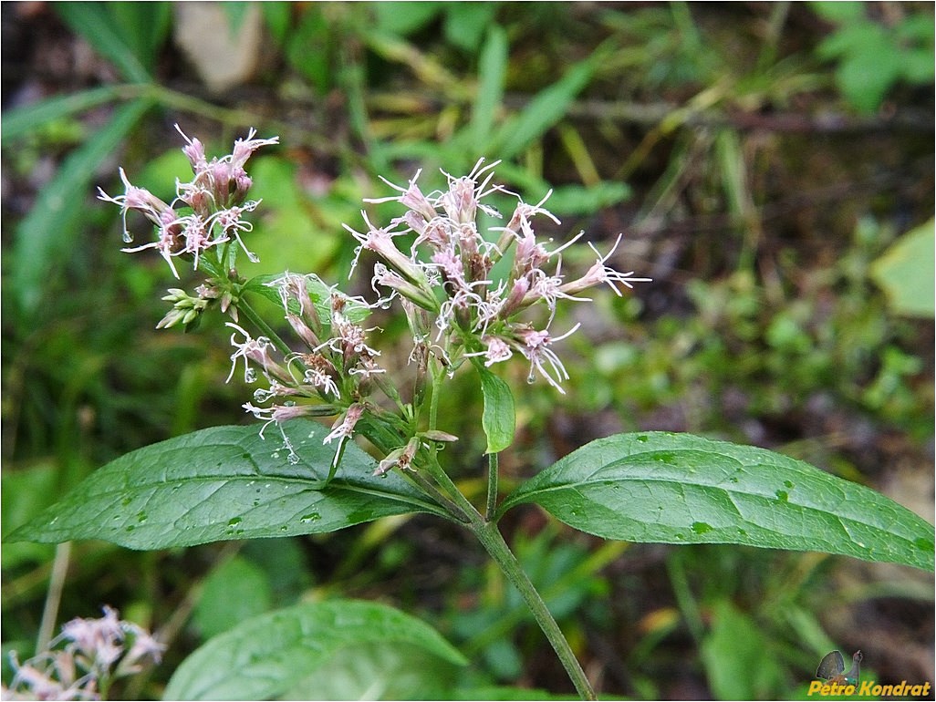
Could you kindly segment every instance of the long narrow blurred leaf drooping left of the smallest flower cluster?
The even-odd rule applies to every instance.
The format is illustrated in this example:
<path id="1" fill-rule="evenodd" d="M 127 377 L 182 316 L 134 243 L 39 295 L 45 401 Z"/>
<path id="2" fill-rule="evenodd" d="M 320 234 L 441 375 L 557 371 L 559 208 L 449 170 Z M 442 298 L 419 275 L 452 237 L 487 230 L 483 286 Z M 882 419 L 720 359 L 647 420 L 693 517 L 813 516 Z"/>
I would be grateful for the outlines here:
<path id="1" fill-rule="evenodd" d="M 137 100 L 117 110 L 108 124 L 68 155 L 17 227 L 11 282 L 23 316 L 33 314 L 42 301 L 58 259 L 70 256 L 97 168 L 150 107 L 148 100 Z"/>

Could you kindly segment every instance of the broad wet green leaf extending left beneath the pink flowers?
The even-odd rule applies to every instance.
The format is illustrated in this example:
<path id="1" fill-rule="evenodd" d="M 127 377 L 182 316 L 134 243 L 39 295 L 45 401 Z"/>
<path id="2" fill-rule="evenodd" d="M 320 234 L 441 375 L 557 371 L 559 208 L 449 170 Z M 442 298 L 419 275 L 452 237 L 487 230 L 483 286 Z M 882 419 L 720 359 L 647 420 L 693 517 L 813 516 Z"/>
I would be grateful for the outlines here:
<path id="1" fill-rule="evenodd" d="M 400 475 L 352 443 L 335 478 L 328 430 L 308 419 L 284 425 L 300 461 L 274 427 L 215 427 L 146 446 L 88 476 L 57 505 L 8 537 L 61 542 L 103 539 L 127 548 L 172 548 L 224 539 L 320 534 L 391 515 L 444 515 Z"/>

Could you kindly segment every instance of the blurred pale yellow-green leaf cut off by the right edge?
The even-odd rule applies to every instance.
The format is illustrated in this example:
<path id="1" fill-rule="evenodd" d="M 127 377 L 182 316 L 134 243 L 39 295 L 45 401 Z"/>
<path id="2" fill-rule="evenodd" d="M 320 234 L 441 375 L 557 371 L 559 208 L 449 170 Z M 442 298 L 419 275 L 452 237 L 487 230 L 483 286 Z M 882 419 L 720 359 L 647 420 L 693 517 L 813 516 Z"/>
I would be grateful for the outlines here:
<path id="1" fill-rule="evenodd" d="M 930 219 L 901 236 L 871 264 L 871 277 L 884 288 L 894 312 L 933 317 L 934 259 L 936 228 Z"/>

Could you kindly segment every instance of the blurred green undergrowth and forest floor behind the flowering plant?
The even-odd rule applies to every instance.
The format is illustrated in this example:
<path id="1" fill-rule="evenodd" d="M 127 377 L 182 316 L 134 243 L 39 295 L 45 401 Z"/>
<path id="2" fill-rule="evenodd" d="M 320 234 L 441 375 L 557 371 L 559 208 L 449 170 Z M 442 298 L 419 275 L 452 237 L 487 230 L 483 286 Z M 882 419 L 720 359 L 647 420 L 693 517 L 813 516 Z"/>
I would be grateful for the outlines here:
<path id="1" fill-rule="evenodd" d="M 504 487 L 592 438 L 671 430 L 767 446 L 933 519 L 933 7 L 927 3 L 4 3 L 3 530 L 133 448 L 248 421 L 220 316 L 155 331 L 178 285 L 120 253 L 123 166 L 170 199 L 178 123 L 224 154 L 249 126 L 260 272 L 344 281 L 361 197 L 500 158 L 500 182 L 650 275 L 567 307 L 572 380 L 517 388 Z M 505 210 L 510 204 L 505 200 Z M 393 216 L 374 206 L 374 217 Z M 376 221 L 376 220 L 375 220 Z M 549 224 L 548 222 L 546 224 Z M 134 223 L 134 226 L 139 223 Z M 542 227 L 542 226 L 541 226 Z M 140 227 L 138 241 L 149 236 Z M 570 249 L 568 271 L 592 253 Z M 367 294 L 359 276 L 355 292 Z M 197 276 L 183 273 L 183 284 Z M 401 373 L 382 322 L 384 353 Z M 500 370 L 500 369 L 499 369 Z M 446 449 L 483 494 L 472 379 Z M 812 553 L 606 543 L 533 508 L 505 519 L 597 688 L 804 695 L 861 649 L 880 682 L 933 680 L 933 578 Z M 376 599 L 438 627 L 465 685 L 572 692 L 516 592 L 429 518 L 136 553 L 2 552 L 4 651 L 102 604 L 170 643 L 118 695 L 157 697 L 188 651 L 273 607 Z M 45 612 L 45 614 L 43 614 Z M 5 658 L 5 676 L 8 675 Z M 5 678 L 6 679 L 6 678 Z M 453 692 L 453 695 L 457 693 Z"/>

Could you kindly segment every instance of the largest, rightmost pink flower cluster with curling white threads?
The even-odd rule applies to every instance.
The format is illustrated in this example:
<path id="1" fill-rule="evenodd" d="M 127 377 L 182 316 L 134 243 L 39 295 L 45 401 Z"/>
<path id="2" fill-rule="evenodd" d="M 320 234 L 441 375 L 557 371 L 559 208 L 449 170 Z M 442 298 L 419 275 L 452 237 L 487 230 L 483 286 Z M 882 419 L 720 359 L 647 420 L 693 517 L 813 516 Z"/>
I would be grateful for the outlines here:
<path id="1" fill-rule="evenodd" d="M 559 224 L 543 207 L 548 195 L 538 204 L 529 205 L 504 188 L 491 185 L 491 169 L 497 163 L 484 166 L 482 159 L 471 173 L 461 178 L 446 173 L 447 190 L 430 195 L 424 195 L 417 185 L 419 172 L 406 187 L 387 182 L 401 195 L 367 201 L 397 201 L 407 211 L 389 227 L 374 227 L 365 214 L 366 233 L 345 227 L 358 240 L 358 256 L 370 250 L 381 258 L 374 267 L 375 289 L 388 288 L 391 295 L 400 295 L 435 314 L 436 341 L 442 344 L 440 348 L 446 362 L 457 365 L 457 355 L 463 353 L 465 357 L 483 357 L 485 365 L 490 366 L 518 352 L 530 362 L 531 379 L 534 373 L 539 373 L 551 386 L 563 392 L 561 383 L 568 378 L 568 373 L 551 346 L 578 327 L 561 336 L 553 336 L 548 331 L 557 301 L 589 300 L 576 296 L 602 283 L 620 296 L 619 284 L 632 287 L 636 282 L 650 279 L 636 278 L 634 271 L 622 273 L 606 265 L 621 241 L 619 236 L 606 256 L 595 252 L 597 260 L 589 271 L 566 281 L 561 252 L 582 234 L 548 251 L 536 240 L 532 224 L 537 214 Z M 490 241 L 477 226 L 477 213 L 500 217 L 496 210 L 482 202 L 484 197 L 497 191 L 517 197 L 519 202 L 505 227 L 490 229 L 499 232 L 497 240 Z M 405 255 L 393 240 L 414 234 L 409 254 Z M 514 249 L 513 266 L 504 280 L 495 281 L 491 269 L 511 248 Z M 531 323 L 518 319 L 520 313 L 537 303 L 548 308 L 544 329 L 536 329 Z"/>

